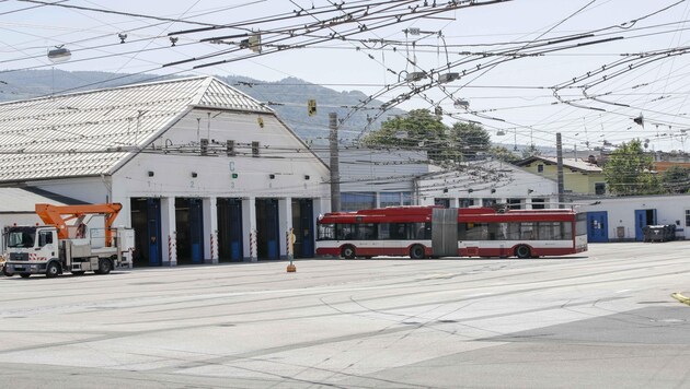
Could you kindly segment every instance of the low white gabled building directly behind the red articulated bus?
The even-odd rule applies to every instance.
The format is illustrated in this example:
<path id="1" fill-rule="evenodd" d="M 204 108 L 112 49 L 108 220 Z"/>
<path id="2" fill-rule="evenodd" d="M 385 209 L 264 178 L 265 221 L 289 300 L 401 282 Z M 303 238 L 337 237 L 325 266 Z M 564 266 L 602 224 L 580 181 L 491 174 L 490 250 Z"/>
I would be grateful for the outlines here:
<path id="1" fill-rule="evenodd" d="M 417 179 L 421 205 L 447 208 L 508 204 L 514 209 L 557 208 L 556 182 L 502 161 L 480 161 L 458 170 L 429 173 Z"/>

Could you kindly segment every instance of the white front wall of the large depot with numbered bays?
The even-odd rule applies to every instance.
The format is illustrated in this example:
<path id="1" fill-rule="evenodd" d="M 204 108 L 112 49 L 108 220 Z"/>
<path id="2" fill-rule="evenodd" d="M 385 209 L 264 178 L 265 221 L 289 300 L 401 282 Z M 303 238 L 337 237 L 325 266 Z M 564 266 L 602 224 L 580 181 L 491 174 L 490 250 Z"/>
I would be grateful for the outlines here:
<path id="1" fill-rule="evenodd" d="M 258 120 L 261 118 L 261 120 Z M 261 125 L 260 125 L 261 122 Z M 202 155 L 202 139 L 208 140 Z M 228 155 L 227 141 L 235 142 Z M 258 141 L 257 156 L 252 142 Z M 314 216 L 327 212 L 329 168 L 271 115 L 194 109 L 168 129 L 152 145 L 119 167 L 112 177 L 56 179 L 32 182 L 42 189 L 90 203 L 120 202 L 114 225 L 131 226 L 130 200 L 159 198 L 162 237 L 175 241 L 175 198 L 200 198 L 204 213 L 204 261 L 218 261 L 216 203 L 238 198 L 243 203 L 243 226 L 256 228 L 255 201 L 275 198 L 279 203 L 279 234 L 291 227 L 291 199 L 313 200 Z M 244 239 L 244 257 L 255 259 L 252 237 Z M 286 241 L 280 239 L 280 254 Z M 252 251 L 253 250 L 253 251 Z M 174 250 L 173 250 L 174 251 Z M 175 264 L 174 252 L 161 250 L 163 262 Z"/>

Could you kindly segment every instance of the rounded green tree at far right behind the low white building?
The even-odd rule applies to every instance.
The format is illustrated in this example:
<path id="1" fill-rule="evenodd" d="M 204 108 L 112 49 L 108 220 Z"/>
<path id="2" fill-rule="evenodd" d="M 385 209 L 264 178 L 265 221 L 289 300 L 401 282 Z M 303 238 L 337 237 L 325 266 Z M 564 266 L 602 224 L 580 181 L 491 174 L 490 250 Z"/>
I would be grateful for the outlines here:
<path id="1" fill-rule="evenodd" d="M 603 165 L 603 176 L 614 194 L 657 194 L 663 191 L 658 178 L 652 173 L 652 156 L 644 153 L 639 139 L 622 143 L 611 153 Z"/>

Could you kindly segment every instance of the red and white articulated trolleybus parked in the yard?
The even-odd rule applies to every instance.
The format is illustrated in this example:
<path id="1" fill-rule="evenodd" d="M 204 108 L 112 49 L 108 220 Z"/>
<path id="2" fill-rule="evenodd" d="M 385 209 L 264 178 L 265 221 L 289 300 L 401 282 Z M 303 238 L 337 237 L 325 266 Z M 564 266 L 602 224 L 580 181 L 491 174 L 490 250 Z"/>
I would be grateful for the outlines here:
<path id="1" fill-rule="evenodd" d="M 347 259 L 563 256 L 587 250 L 587 214 L 573 210 L 391 207 L 319 217 L 317 255 Z"/>

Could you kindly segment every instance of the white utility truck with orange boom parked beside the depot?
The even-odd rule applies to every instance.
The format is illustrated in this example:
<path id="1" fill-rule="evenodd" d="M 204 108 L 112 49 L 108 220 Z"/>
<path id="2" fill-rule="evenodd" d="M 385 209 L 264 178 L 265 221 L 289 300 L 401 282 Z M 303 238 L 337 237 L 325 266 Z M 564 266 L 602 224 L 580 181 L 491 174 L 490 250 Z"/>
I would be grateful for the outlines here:
<path id="1" fill-rule="evenodd" d="M 112 226 L 120 209 L 119 203 L 36 204 L 44 225 L 5 227 L 5 270 L 22 278 L 54 278 L 65 272 L 107 274 L 130 268 L 134 229 Z M 104 228 L 89 228 L 87 216 L 102 216 Z"/>

